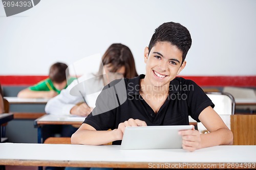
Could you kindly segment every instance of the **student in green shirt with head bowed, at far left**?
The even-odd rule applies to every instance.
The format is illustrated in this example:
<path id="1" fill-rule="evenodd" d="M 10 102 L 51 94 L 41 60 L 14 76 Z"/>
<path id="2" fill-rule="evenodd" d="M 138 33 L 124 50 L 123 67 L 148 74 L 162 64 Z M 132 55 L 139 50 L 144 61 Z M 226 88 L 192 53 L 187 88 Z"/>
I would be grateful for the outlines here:
<path id="1" fill-rule="evenodd" d="M 65 63 L 57 62 L 53 64 L 50 67 L 49 78 L 21 90 L 17 95 L 18 98 L 53 98 L 58 95 L 62 89 L 67 88 L 67 68 L 68 65 Z M 67 74 L 69 74 L 68 70 Z"/>

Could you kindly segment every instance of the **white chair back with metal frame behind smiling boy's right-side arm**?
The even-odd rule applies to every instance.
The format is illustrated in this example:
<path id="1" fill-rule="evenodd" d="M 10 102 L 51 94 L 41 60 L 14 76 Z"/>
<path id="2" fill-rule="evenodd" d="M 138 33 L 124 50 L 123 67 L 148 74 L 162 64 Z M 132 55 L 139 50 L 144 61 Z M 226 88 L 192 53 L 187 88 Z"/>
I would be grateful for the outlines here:
<path id="1" fill-rule="evenodd" d="M 230 127 L 230 116 L 234 114 L 234 98 L 231 94 L 226 92 L 206 92 L 212 103 L 215 104 L 214 110 L 220 115 L 226 126 Z M 198 123 L 198 130 L 200 133 L 208 133 L 207 129 L 200 122 Z"/>

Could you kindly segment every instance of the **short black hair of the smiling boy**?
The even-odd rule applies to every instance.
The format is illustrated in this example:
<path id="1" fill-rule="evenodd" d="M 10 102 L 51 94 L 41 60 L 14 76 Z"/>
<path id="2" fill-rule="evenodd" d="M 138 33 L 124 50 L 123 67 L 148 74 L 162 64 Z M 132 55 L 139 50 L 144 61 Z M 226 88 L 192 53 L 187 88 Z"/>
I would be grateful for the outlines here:
<path id="1" fill-rule="evenodd" d="M 182 52 L 183 63 L 191 46 L 192 39 L 189 31 L 180 23 L 165 22 L 155 30 L 150 44 L 148 45 L 148 54 L 150 54 L 152 47 L 155 46 L 157 42 L 170 42 L 176 45 Z"/>

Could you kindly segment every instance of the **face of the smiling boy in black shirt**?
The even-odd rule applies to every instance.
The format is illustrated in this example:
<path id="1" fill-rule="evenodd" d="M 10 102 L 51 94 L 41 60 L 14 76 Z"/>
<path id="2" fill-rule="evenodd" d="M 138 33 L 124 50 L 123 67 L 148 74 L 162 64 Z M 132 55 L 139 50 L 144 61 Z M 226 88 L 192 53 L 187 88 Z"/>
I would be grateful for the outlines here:
<path id="1" fill-rule="evenodd" d="M 180 71 L 185 67 L 182 62 L 182 52 L 170 42 L 157 42 L 148 55 L 148 47 L 144 51 L 146 63 L 146 76 L 144 81 L 155 87 L 169 85 Z"/>

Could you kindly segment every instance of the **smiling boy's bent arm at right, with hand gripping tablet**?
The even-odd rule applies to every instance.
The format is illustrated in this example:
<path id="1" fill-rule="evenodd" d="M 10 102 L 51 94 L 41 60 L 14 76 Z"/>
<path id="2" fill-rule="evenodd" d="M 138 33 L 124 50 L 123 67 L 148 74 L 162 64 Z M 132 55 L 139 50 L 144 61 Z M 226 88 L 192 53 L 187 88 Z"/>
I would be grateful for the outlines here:
<path id="1" fill-rule="evenodd" d="M 180 131 L 183 139 L 183 149 L 194 151 L 200 148 L 233 143 L 232 132 L 210 106 L 200 113 L 199 120 L 210 133 L 200 134 L 196 130 Z"/>

